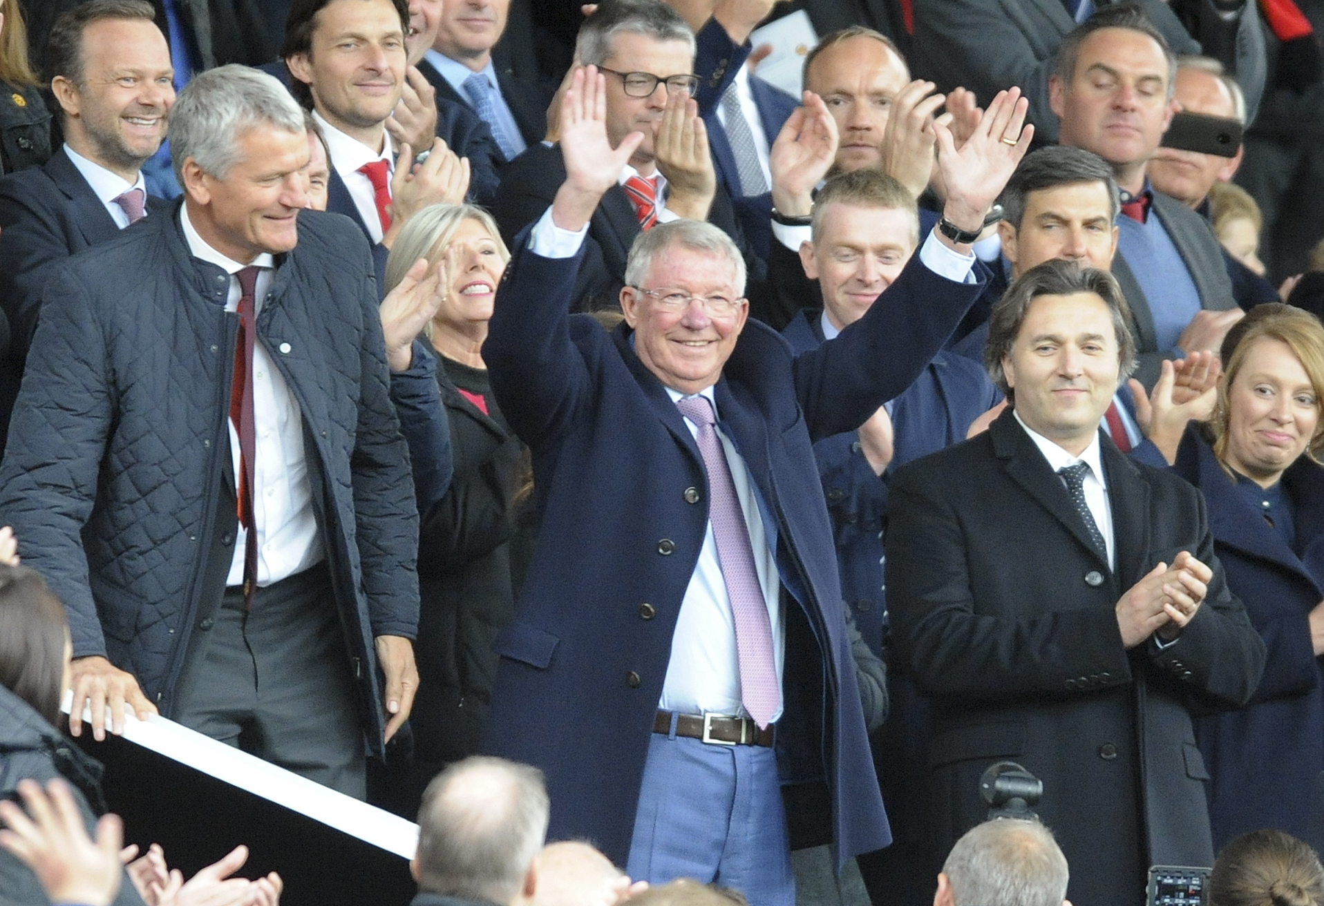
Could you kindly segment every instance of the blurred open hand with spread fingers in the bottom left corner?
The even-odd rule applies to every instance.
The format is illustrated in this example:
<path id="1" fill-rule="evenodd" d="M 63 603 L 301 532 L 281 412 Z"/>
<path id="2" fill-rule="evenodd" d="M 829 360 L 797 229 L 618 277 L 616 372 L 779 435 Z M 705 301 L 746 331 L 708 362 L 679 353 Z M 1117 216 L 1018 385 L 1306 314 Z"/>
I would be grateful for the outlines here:
<path id="1" fill-rule="evenodd" d="M 53 903 L 114 902 L 124 877 L 119 862 L 124 825 L 119 816 L 102 816 L 93 843 L 64 780 L 56 778 L 46 791 L 36 780 L 19 780 L 19 795 L 26 813 L 8 799 L 0 800 L 0 821 L 8 825 L 0 831 L 0 846 L 32 869 Z"/>

